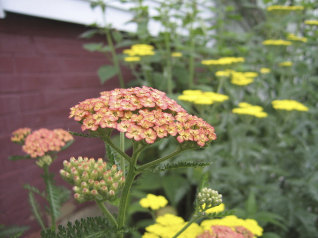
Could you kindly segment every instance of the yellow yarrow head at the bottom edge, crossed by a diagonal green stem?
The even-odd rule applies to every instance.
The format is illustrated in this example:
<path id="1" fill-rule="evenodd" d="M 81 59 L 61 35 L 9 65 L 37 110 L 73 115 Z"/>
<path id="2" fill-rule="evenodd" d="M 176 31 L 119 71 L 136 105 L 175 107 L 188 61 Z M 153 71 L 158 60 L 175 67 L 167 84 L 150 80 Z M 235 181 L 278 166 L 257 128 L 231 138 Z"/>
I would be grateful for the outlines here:
<path id="1" fill-rule="evenodd" d="M 172 238 L 186 224 L 181 217 L 167 213 L 158 217 L 154 225 L 146 227 L 142 238 Z M 195 238 L 202 232 L 203 229 L 197 223 L 192 223 L 178 238 Z"/>

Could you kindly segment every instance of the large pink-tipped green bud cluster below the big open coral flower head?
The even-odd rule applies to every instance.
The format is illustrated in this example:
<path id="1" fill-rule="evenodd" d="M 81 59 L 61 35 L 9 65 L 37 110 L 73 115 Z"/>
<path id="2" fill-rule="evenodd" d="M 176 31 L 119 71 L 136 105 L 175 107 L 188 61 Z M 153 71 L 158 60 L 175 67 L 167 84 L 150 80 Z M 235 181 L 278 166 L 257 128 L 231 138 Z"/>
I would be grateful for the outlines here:
<path id="1" fill-rule="evenodd" d="M 107 170 L 106 162 L 101 158 L 74 157 L 70 162 L 64 161 L 64 170 L 60 170 L 61 177 L 74 184 L 74 198 L 77 202 L 88 200 L 113 200 L 119 189 L 125 185 L 123 172 L 113 165 Z"/>

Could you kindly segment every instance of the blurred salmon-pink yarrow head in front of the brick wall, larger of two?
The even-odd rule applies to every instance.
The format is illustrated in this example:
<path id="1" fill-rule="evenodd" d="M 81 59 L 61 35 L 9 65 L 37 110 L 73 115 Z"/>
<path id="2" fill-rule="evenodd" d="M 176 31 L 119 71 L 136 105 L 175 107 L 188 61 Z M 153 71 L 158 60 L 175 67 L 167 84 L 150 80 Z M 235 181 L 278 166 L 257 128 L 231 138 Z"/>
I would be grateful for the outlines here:
<path id="1" fill-rule="evenodd" d="M 29 134 L 24 141 L 22 150 L 31 158 L 46 155 L 48 152 L 60 151 L 66 142 L 74 140 L 73 136 L 66 130 L 49 130 L 41 128 Z"/>

